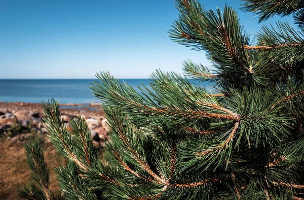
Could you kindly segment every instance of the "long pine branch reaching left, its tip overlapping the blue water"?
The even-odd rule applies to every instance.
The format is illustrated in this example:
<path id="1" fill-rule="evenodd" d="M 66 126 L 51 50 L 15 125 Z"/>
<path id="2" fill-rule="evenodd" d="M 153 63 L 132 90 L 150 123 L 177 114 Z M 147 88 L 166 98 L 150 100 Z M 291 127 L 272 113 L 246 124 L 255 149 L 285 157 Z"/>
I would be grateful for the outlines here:
<path id="1" fill-rule="evenodd" d="M 164 76 L 163 74 L 160 74 L 161 76 Z M 153 116 L 153 117 L 181 117 L 181 118 L 188 118 L 188 119 L 202 119 L 202 118 L 217 118 L 217 119 L 225 119 L 225 120 L 239 120 L 239 116 L 237 114 L 221 114 L 221 113 L 210 113 L 207 111 L 202 110 L 191 110 L 189 108 L 185 107 L 177 107 L 175 105 L 174 107 L 166 106 L 164 102 L 164 98 L 162 99 L 151 99 L 149 96 L 152 97 L 158 97 L 155 93 L 149 92 L 148 95 L 144 94 L 146 98 L 144 98 L 142 95 L 140 95 L 137 91 L 135 91 L 132 87 L 129 85 L 122 84 L 118 80 L 113 79 L 109 74 L 103 73 L 100 75 L 96 75 L 97 78 L 100 80 L 100 83 L 94 82 L 94 86 L 91 87 L 91 89 L 94 90 L 94 95 L 98 98 L 100 98 L 105 104 L 109 106 L 114 106 L 126 110 L 128 112 L 130 117 L 132 114 L 138 115 L 142 114 L 146 116 Z M 107 81 L 105 81 L 107 80 Z M 128 93 L 127 91 L 130 91 Z M 165 90 L 158 91 L 158 94 L 160 92 L 166 92 Z M 169 92 L 172 92 L 172 88 Z M 186 96 L 187 95 L 187 96 Z M 202 94 L 204 97 L 206 97 L 205 93 Z M 164 97 L 166 97 L 168 101 L 168 95 L 164 93 Z M 185 94 L 184 99 L 189 99 L 189 103 L 192 102 L 192 99 L 194 96 L 191 96 L 189 94 Z M 171 98 L 172 99 L 172 98 Z M 160 102 L 164 102 L 164 104 L 160 104 Z M 210 98 L 210 101 L 214 101 L 213 98 Z M 121 104 L 121 102 L 124 102 L 124 104 Z M 172 105 L 172 104 L 171 104 Z M 227 110 L 223 110 L 220 107 L 216 106 L 208 106 L 204 105 L 204 107 L 224 111 L 227 112 Z"/>

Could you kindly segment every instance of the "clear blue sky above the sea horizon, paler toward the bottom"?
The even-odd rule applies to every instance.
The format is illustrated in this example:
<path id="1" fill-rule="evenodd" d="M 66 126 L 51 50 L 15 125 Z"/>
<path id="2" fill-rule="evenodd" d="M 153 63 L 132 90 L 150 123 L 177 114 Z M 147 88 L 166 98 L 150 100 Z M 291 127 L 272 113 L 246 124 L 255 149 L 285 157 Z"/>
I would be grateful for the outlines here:
<path id="1" fill-rule="evenodd" d="M 261 25 L 239 1 L 200 2 L 233 6 L 252 34 Z M 171 0 L 0 0 L 0 79 L 94 78 L 100 71 L 147 78 L 156 69 L 182 73 L 187 58 L 208 66 L 203 51 L 168 38 L 177 14 Z"/>

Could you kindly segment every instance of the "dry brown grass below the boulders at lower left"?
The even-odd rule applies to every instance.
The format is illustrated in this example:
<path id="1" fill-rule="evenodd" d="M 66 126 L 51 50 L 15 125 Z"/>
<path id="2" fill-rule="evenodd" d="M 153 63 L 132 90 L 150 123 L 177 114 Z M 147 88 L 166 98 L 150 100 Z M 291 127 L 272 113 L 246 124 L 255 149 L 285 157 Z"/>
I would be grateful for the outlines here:
<path id="1" fill-rule="evenodd" d="M 43 136 L 40 141 L 44 142 Z M 49 143 L 44 143 L 45 159 L 50 169 L 49 187 L 59 190 L 52 169 L 64 162 L 64 158 Z M 0 138 L 0 199 L 20 199 L 18 190 L 31 180 L 22 143 L 10 144 L 6 138 Z"/>

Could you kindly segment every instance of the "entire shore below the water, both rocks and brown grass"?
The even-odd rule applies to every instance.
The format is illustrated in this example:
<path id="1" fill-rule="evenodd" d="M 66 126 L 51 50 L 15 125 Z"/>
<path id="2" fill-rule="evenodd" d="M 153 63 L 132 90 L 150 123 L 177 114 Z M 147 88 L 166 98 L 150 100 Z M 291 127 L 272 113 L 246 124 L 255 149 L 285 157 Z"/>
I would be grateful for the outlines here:
<path id="1" fill-rule="evenodd" d="M 85 118 L 93 144 L 103 148 L 108 140 L 108 126 L 101 104 L 60 104 L 60 112 L 68 129 L 71 128 L 70 119 L 78 116 Z M 44 144 L 45 158 L 51 171 L 64 163 L 65 158 L 50 144 L 43 116 L 41 104 L 0 102 L 0 199 L 18 199 L 19 188 L 30 180 L 23 149 L 25 142 L 40 140 Z M 59 189 L 53 172 L 50 188 Z"/>

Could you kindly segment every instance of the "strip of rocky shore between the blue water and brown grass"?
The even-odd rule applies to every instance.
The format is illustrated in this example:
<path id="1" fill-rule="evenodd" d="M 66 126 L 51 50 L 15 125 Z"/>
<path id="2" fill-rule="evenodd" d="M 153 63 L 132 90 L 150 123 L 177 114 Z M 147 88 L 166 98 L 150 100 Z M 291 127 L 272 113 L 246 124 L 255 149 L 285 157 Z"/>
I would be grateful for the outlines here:
<path id="1" fill-rule="evenodd" d="M 85 118 L 96 146 L 107 140 L 108 127 L 101 104 L 60 104 L 60 111 L 67 128 L 71 128 L 70 119 L 77 116 Z M 0 102 L 0 134 L 7 136 L 11 143 L 25 140 L 31 134 L 47 134 L 42 105 Z"/>

